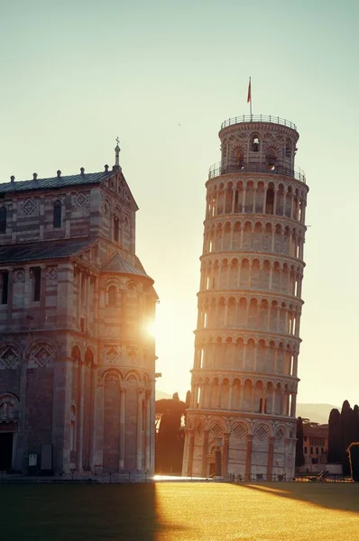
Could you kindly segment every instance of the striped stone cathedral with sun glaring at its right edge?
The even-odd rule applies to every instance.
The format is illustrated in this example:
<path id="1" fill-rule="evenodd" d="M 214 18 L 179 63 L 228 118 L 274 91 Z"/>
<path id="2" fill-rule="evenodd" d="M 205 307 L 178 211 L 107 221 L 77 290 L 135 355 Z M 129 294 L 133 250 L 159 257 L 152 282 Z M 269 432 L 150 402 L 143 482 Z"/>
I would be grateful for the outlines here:
<path id="1" fill-rule="evenodd" d="M 157 296 L 119 152 L 0 184 L 0 471 L 153 472 Z"/>

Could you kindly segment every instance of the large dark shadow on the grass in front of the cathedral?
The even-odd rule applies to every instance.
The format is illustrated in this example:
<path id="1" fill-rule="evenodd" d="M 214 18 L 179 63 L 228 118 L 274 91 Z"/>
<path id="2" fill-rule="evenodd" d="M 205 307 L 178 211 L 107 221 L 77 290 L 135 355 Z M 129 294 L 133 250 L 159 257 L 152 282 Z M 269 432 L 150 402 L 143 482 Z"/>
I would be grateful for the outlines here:
<path id="1" fill-rule="evenodd" d="M 0 502 L 0 539 L 12 541 L 155 541 L 186 529 L 161 522 L 155 483 L 3 485 Z"/>

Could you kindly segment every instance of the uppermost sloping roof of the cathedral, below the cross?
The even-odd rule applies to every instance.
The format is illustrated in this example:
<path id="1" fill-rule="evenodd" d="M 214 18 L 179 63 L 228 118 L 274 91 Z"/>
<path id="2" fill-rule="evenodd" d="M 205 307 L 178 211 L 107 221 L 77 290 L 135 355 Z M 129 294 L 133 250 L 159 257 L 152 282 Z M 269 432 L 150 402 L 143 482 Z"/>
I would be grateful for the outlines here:
<path id="1" fill-rule="evenodd" d="M 0 193 L 19 192 L 32 189 L 53 189 L 78 184 L 96 184 L 111 175 L 113 171 L 101 171 L 100 173 L 85 173 L 83 175 L 69 175 L 68 177 L 51 177 L 51 179 L 31 179 L 5 182 L 0 184 Z"/>

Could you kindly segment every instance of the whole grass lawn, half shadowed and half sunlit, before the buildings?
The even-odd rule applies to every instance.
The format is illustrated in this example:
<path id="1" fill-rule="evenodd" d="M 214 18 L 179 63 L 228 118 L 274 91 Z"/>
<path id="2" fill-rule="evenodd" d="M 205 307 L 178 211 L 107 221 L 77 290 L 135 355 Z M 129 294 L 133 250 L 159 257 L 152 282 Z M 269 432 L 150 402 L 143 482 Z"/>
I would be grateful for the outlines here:
<path id="1" fill-rule="evenodd" d="M 0 485 L 0 539 L 359 540 L 359 484 Z"/>

